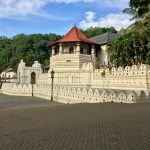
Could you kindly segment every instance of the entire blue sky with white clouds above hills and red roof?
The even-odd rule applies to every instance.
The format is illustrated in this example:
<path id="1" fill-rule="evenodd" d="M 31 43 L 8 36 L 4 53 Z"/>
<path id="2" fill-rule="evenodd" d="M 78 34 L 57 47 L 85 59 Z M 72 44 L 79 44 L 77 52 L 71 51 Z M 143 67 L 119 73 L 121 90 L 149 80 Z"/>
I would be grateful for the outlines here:
<path id="1" fill-rule="evenodd" d="M 127 27 L 128 0 L 0 0 L 0 35 L 56 33 L 79 28 Z"/>

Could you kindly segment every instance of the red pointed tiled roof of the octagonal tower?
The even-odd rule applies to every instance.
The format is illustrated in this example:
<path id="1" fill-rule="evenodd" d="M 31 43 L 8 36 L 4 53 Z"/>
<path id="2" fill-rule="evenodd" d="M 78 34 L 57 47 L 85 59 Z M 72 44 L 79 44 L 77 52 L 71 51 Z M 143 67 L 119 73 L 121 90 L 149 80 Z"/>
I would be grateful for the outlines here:
<path id="1" fill-rule="evenodd" d="M 96 44 L 94 41 L 86 38 L 76 26 L 74 26 L 62 39 L 58 40 L 58 42 L 85 42 Z"/>

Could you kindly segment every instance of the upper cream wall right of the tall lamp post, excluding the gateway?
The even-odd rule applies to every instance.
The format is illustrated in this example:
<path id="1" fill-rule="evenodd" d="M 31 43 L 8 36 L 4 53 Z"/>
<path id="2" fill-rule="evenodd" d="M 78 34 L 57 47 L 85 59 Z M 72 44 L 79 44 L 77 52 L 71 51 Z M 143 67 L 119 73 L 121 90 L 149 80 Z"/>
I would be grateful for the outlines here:
<path id="1" fill-rule="evenodd" d="M 105 89 L 150 89 L 150 66 L 127 66 L 125 68 L 95 69 L 92 63 L 83 64 L 81 70 L 54 70 L 54 84 L 73 87 L 92 87 Z M 51 83 L 50 72 L 47 82 Z"/>

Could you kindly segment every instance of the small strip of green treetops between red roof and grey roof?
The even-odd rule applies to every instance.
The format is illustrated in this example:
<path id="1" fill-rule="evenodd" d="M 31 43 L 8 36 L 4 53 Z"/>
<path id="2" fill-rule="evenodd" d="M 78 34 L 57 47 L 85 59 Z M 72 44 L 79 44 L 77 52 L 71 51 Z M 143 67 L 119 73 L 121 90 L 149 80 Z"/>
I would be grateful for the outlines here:
<path id="1" fill-rule="evenodd" d="M 109 32 L 112 32 L 112 33 L 116 33 L 117 31 L 115 30 L 114 27 L 110 27 L 110 28 L 99 28 L 99 27 L 91 27 L 91 28 L 88 28 L 86 30 L 82 30 L 80 29 L 80 31 L 87 37 L 87 38 L 91 38 L 91 37 L 94 37 L 96 35 L 100 35 L 100 34 L 103 34 L 107 31 Z"/>

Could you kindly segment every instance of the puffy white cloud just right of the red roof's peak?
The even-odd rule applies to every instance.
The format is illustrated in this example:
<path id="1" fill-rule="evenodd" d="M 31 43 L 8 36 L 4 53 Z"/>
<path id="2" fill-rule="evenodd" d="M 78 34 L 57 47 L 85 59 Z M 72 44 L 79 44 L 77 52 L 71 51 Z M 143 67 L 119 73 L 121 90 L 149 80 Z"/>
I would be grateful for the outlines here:
<path id="1" fill-rule="evenodd" d="M 93 15 L 91 15 L 93 14 Z M 90 19 L 89 19 L 90 18 Z M 108 14 L 105 17 L 95 19 L 94 12 L 86 12 L 85 20 L 79 23 L 79 26 L 83 29 L 87 29 L 89 27 L 115 27 L 117 30 L 121 29 L 121 27 L 128 27 L 131 23 L 131 16 L 126 14 Z"/>

